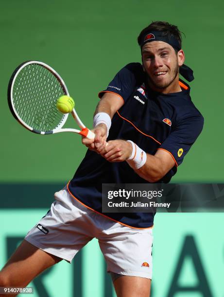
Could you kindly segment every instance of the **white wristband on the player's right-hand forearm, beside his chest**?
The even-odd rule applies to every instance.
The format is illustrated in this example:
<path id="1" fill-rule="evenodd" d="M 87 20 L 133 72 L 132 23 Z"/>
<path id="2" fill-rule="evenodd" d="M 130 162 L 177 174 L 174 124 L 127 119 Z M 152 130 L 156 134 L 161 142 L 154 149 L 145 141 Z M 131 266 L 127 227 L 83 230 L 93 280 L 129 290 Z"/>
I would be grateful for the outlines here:
<path id="1" fill-rule="evenodd" d="M 129 141 L 132 144 L 132 154 L 126 161 L 133 169 L 139 169 L 146 162 L 146 152 L 139 148 L 133 141 L 127 141 Z"/>

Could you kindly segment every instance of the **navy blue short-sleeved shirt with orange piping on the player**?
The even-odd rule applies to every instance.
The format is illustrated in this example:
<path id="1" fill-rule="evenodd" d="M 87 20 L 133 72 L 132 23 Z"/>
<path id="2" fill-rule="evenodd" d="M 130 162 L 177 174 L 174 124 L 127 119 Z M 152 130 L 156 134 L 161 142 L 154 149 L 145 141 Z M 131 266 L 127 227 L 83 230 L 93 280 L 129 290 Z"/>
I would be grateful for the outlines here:
<path id="1" fill-rule="evenodd" d="M 157 149 L 171 154 L 175 166 L 157 183 L 167 183 L 177 166 L 202 131 L 204 119 L 190 99 L 190 86 L 179 80 L 182 91 L 162 94 L 147 86 L 139 63 L 123 67 L 104 92 L 116 93 L 124 101 L 112 118 L 108 140 L 132 140 L 146 153 Z M 102 183 L 148 183 L 127 164 L 110 163 L 92 150 L 69 182 L 69 192 L 88 208 L 102 213 Z M 121 224 L 134 228 L 153 225 L 152 213 L 103 213 Z"/>

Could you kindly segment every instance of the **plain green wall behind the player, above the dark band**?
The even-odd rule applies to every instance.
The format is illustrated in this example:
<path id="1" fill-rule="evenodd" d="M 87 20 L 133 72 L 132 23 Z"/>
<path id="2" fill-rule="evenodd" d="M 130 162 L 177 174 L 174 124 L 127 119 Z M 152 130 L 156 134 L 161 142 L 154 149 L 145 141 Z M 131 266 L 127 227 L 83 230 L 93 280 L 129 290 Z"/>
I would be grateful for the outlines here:
<path id="1" fill-rule="evenodd" d="M 36 59 L 55 68 L 90 127 L 98 92 L 122 66 L 140 61 L 138 33 L 158 19 L 186 35 L 186 64 L 195 75 L 191 97 L 205 117 L 203 133 L 172 181 L 223 181 L 223 11 L 217 0 L 1 1 L 0 181 L 67 181 L 86 151 L 77 135 L 40 136 L 17 124 L 6 101 L 15 67 Z"/>

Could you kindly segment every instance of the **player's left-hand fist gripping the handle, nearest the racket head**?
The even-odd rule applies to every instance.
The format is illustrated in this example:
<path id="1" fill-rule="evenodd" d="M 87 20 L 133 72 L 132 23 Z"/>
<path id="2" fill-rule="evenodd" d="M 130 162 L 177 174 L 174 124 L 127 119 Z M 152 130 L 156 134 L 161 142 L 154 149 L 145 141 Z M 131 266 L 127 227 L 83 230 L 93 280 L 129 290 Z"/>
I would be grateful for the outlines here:
<path id="1" fill-rule="evenodd" d="M 94 150 L 99 154 L 106 146 L 107 127 L 105 124 L 99 124 L 91 131 L 95 133 L 95 138 L 88 139 L 86 137 L 82 137 L 82 143 L 87 148 Z"/>

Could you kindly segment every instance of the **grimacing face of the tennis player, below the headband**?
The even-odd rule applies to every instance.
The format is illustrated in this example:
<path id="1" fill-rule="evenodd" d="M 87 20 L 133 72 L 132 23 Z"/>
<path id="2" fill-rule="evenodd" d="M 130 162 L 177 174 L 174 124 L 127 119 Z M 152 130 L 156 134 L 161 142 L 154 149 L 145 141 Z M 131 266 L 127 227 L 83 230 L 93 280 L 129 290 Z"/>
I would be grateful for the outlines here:
<path id="1" fill-rule="evenodd" d="M 178 72 L 183 62 L 183 50 L 176 54 L 166 42 L 152 41 L 142 48 L 142 65 L 148 75 L 149 85 L 155 91 L 172 93 L 180 90 Z"/>

